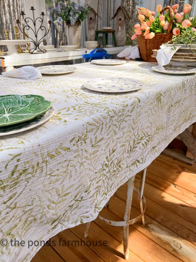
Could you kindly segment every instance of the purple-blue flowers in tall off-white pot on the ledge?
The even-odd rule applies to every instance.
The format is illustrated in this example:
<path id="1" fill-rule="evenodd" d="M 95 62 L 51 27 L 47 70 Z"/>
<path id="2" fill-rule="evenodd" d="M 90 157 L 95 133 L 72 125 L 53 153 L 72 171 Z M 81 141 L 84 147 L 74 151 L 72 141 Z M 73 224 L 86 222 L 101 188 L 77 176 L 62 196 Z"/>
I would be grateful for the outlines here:
<path id="1" fill-rule="evenodd" d="M 57 19 L 54 24 L 62 25 L 66 23 L 67 42 L 69 45 L 77 45 L 80 48 L 81 41 L 81 22 L 87 17 L 90 6 L 71 2 L 66 5 L 62 1 L 51 11 L 56 14 Z"/>

